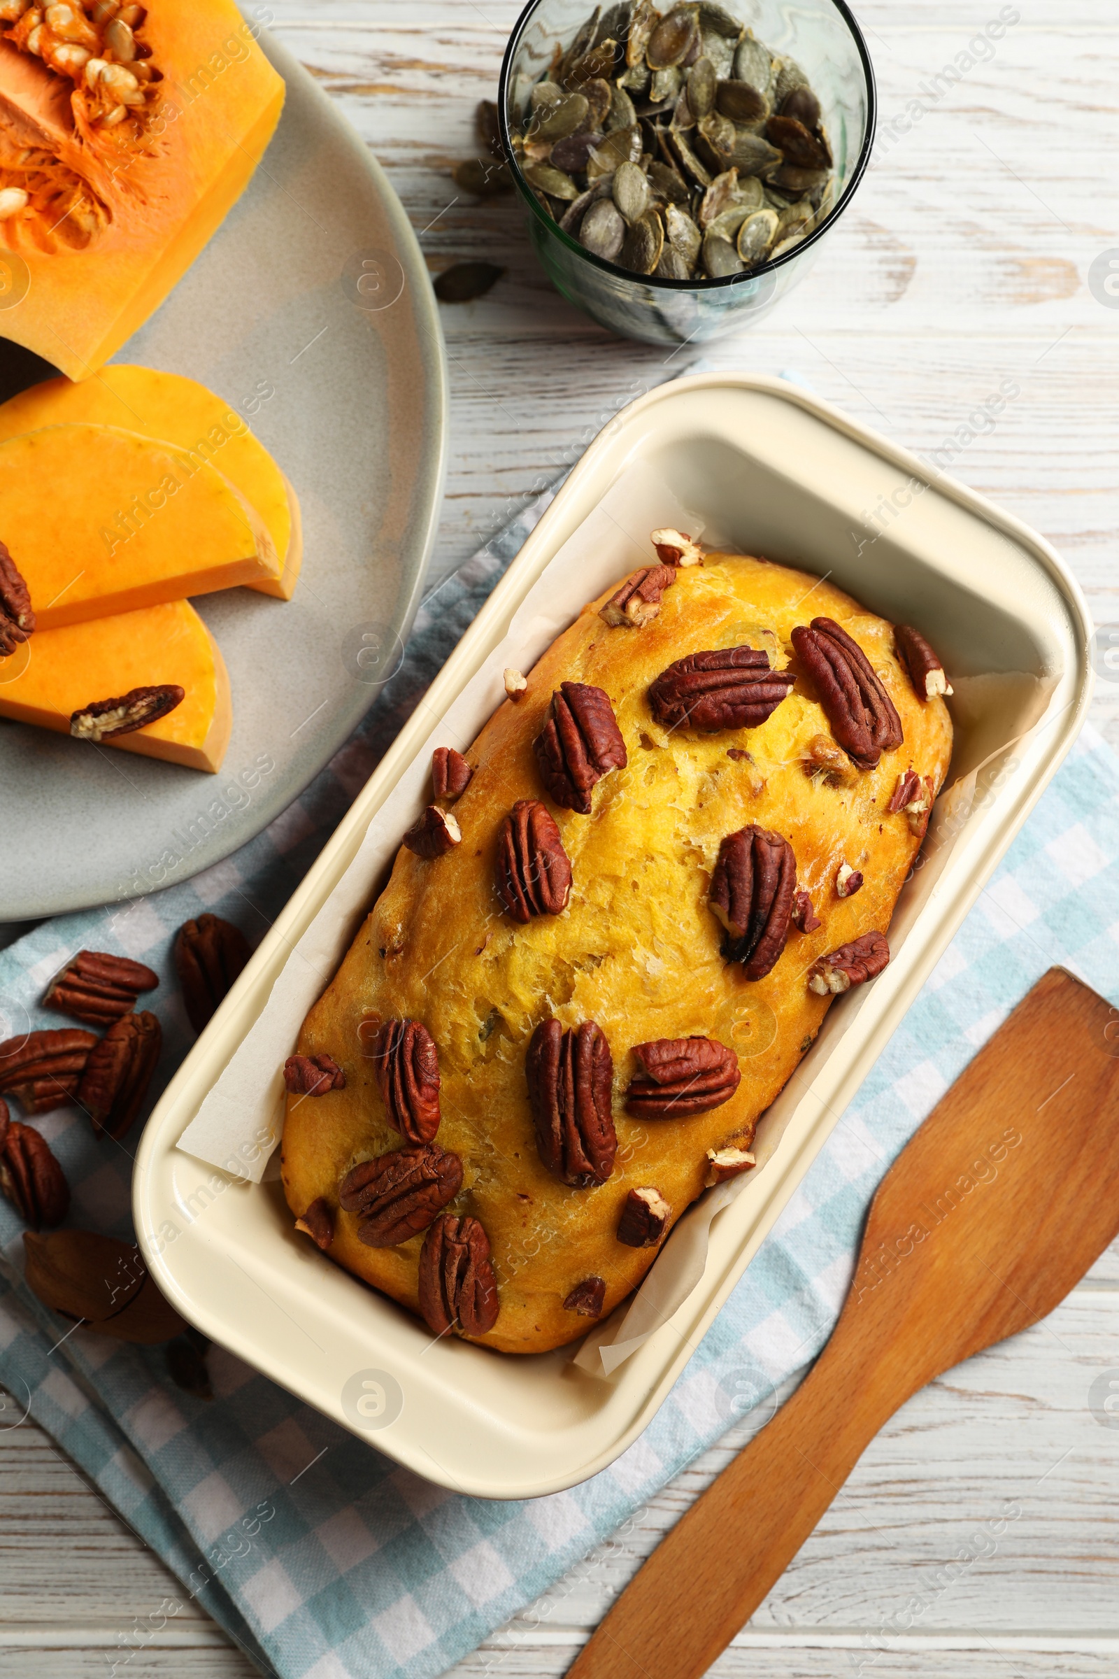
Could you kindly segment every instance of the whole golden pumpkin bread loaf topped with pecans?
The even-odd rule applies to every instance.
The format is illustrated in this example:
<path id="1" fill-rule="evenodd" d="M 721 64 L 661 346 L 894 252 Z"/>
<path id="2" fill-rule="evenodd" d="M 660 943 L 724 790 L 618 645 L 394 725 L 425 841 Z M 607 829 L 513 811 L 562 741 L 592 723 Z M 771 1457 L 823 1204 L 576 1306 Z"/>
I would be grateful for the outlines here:
<path id="1" fill-rule="evenodd" d="M 923 636 L 656 532 L 435 798 L 289 1059 L 284 1187 L 356 1276 L 510 1353 L 584 1335 L 886 932 L 951 756 Z M 948 690 L 950 692 L 950 690 Z"/>

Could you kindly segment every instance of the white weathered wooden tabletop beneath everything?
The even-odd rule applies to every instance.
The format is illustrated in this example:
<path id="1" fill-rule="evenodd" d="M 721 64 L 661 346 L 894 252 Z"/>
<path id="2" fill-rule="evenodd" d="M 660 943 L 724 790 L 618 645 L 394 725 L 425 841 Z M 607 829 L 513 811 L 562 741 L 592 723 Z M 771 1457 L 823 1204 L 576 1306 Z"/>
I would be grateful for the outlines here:
<path id="1" fill-rule="evenodd" d="M 508 270 L 483 301 L 443 311 L 453 401 L 440 578 L 691 353 L 609 339 L 550 290 L 512 200 L 475 205 L 450 181 L 450 163 L 473 151 L 475 102 L 493 96 L 515 0 L 272 3 L 284 40 L 389 170 L 431 270 L 465 257 Z M 1097 621 L 1119 625 L 1119 309 L 1087 285 L 1094 259 L 1119 247 L 1119 12 L 1114 0 L 1018 5 L 993 59 L 938 99 L 921 84 L 966 52 L 1000 0 L 862 0 L 882 119 L 904 128 L 908 112 L 909 131 L 881 153 L 802 289 L 708 354 L 797 369 L 918 452 L 958 433 L 953 472 L 1044 531 Z M 1002 379 L 1020 395 L 968 440 L 958 428 Z M 1119 672 L 1096 720 L 1119 744 Z M 1114 1679 L 1119 1431 L 1089 1410 L 1109 1368 L 1119 1378 L 1119 1253 L 1047 1323 L 904 1407 L 713 1672 Z M 456 1679 L 562 1674 L 742 1437 Z M 106 1674 L 169 1578 L 34 1425 L 0 1432 L 0 1672 Z M 1008 1508 L 995 1548 L 973 1545 Z M 914 1617 L 918 1593 L 928 1607 Z M 129 1679 L 250 1672 L 201 1614 L 128 1666 Z"/>

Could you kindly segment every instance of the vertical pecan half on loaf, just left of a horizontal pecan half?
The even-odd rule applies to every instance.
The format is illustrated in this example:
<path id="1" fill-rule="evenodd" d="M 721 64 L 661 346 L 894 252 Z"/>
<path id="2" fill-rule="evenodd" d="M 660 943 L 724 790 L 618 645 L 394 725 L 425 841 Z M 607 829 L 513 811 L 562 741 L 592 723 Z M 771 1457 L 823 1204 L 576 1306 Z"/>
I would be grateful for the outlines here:
<path id="1" fill-rule="evenodd" d="M 606 1184 L 617 1137 L 611 1115 L 614 1061 L 602 1029 L 584 1021 L 565 1033 L 555 1019 L 540 1021 L 525 1076 L 544 1165 L 572 1189 Z"/>

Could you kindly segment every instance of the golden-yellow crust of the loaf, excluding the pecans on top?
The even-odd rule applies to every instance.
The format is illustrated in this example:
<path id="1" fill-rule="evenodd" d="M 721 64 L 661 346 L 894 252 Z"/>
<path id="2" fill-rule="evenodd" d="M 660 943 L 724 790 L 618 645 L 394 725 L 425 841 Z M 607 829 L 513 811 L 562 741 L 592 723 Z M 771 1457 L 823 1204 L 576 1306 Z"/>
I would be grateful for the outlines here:
<path id="1" fill-rule="evenodd" d="M 423 1234 L 398 1247 L 364 1246 L 357 1216 L 339 1211 L 339 1182 L 359 1162 L 404 1143 L 386 1118 L 367 1054 L 371 1028 L 361 1036 L 359 1028 L 371 1017 L 421 1021 L 440 1056 L 438 1145 L 463 1164 L 461 1190 L 446 1211 L 481 1224 L 498 1284 L 493 1328 L 468 1338 L 510 1353 L 547 1352 L 584 1335 L 587 1316 L 565 1301 L 587 1279 L 606 1283 L 602 1316 L 641 1283 L 659 1244 L 619 1242 L 631 1190 L 659 1192 L 671 1207 L 668 1229 L 703 1192 L 708 1150 L 750 1147 L 758 1117 L 834 1001 L 809 989 L 809 969 L 861 934 L 889 927 L 921 846 L 906 814 L 887 813 L 899 776 L 913 769 L 938 792 L 951 757 L 945 702 L 916 697 L 893 626 L 830 584 L 760 559 L 711 554 L 676 574 L 659 615 L 643 628 L 611 628 L 599 616 L 616 588 L 584 608 L 532 670 L 520 700 L 507 700 L 465 754 L 473 777 L 453 806 L 461 845 L 429 860 L 398 853 L 386 890 L 299 1038 L 299 1053 L 329 1054 L 346 1086 L 315 1098 L 289 1095 L 284 1130 L 292 1212 L 300 1217 L 324 1200 L 334 1219 L 330 1258 L 418 1311 Z M 832 730 L 790 633 L 814 616 L 834 618 L 856 638 L 904 730 L 899 749 L 882 752 L 872 771 L 852 769 L 847 786 L 812 774 L 809 744 L 832 740 Z M 738 645 L 765 648 L 773 667 L 797 675 L 767 722 L 700 734 L 654 720 L 648 690 L 668 665 Z M 594 786 L 591 816 L 549 799 L 533 756 L 560 682 L 604 688 L 627 749 L 627 766 Z M 555 818 L 574 883 L 562 915 L 518 925 L 495 890 L 495 853 L 502 818 L 527 798 L 542 799 Z M 748 824 L 792 843 L 797 887 L 820 920 L 810 934 L 792 927 L 775 967 L 757 981 L 720 955 L 725 935 L 708 907 L 720 843 Z M 862 873 L 851 897 L 835 890 L 844 863 Z M 564 1028 L 597 1023 L 614 1058 L 617 1157 L 611 1177 L 589 1189 L 562 1184 L 537 1153 L 525 1054 L 549 1014 Z M 742 1080 L 731 1098 L 691 1118 L 631 1118 L 624 1095 L 641 1071 L 632 1048 L 690 1036 L 738 1054 Z"/>

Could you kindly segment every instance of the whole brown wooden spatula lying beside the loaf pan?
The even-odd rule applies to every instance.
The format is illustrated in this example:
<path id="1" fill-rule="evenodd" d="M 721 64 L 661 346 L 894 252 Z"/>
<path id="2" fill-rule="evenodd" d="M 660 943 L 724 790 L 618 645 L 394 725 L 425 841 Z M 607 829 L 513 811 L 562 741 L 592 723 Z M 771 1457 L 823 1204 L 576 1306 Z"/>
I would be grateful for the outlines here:
<path id="1" fill-rule="evenodd" d="M 906 1399 L 1057 1306 L 1119 1234 L 1116 1011 L 1050 969 L 871 1204 L 807 1380 L 661 1541 L 569 1679 L 700 1679 Z"/>

